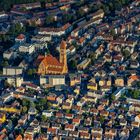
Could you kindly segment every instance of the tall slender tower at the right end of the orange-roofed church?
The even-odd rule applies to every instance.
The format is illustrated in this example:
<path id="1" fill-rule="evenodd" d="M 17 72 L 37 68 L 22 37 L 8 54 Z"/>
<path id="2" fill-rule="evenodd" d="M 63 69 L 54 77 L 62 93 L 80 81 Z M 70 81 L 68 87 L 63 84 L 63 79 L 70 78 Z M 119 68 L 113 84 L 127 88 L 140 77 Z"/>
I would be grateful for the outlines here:
<path id="1" fill-rule="evenodd" d="M 66 42 L 62 40 L 60 44 L 60 63 L 63 64 L 63 73 L 68 72 L 68 67 L 67 67 L 67 54 L 66 54 Z"/>

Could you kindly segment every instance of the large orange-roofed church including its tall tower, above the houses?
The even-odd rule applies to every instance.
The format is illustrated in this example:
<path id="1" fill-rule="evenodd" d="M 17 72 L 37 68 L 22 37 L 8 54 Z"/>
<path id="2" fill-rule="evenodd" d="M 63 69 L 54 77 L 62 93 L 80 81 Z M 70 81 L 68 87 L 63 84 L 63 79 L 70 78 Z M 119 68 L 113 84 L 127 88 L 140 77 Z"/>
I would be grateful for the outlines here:
<path id="1" fill-rule="evenodd" d="M 66 74 L 68 72 L 67 67 L 67 55 L 66 55 L 66 42 L 62 40 L 60 44 L 60 57 L 59 60 L 53 57 L 51 54 L 45 56 L 38 56 L 38 74 Z"/>

